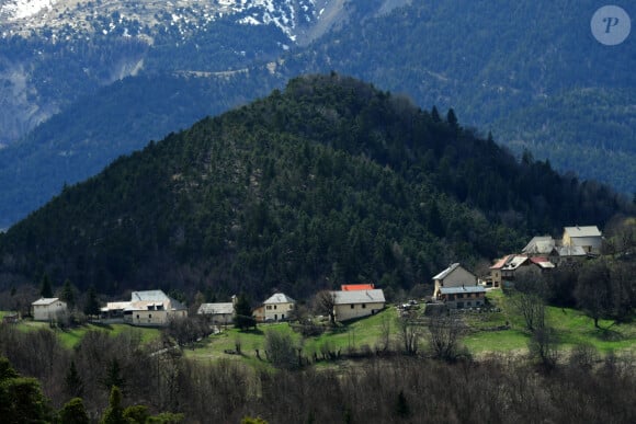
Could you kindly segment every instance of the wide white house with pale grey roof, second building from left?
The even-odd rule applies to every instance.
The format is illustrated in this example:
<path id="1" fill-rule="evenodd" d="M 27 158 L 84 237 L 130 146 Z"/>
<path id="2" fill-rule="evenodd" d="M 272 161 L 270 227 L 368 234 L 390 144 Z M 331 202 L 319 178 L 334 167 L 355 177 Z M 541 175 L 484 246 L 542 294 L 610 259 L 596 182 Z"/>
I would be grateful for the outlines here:
<path id="1" fill-rule="evenodd" d="M 188 317 L 188 309 L 162 290 L 133 291 L 130 301 L 109 302 L 102 320 L 140 326 L 166 326 L 171 319 Z"/>

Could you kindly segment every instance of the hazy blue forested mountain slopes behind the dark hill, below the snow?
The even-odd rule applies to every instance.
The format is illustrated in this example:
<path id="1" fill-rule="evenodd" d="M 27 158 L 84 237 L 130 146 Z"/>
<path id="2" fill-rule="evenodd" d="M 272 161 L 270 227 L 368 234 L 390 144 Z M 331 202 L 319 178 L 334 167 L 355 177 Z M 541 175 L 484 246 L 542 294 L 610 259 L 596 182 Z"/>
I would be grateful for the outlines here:
<path id="1" fill-rule="evenodd" d="M 75 183 L 98 172 L 107 159 L 156 138 L 156 129 L 167 128 L 163 134 L 170 130 L 158 126 L 145 133 L 139 123 L 150 122 L 152 116 L 174 123 L 171 129 L 178 129 L 200 118 L 201 111 L 216 114 L 282 88 L 297 75 L 332 69 L 391 92 L 408 93 L 423 107 L 436 104 L 444 112 L 452 106 L 465 125 L 484 133 L 491 130 L 495 139 L 511 147 L 515 154 L 521 156 L 526 147 L 536 158 L 549 159 L 564 172 L 573 171 L 582 179 L 598 179 L 623 193 L 633 193 L 636 145 L 629 135 L 635 131 L 631 111 L 636 107 L 631 94 L 636 85 L 634 37 L 612 48 L 600 45 L 589 31 L 597 7 L 591 0 L 523 4 L 503 0 L 316 2 L 320 19 L 303 31 L 311 34 L 308 39 L 316 35 L 311 33 L 315 28 L 326 35 L 306 48 L 294 47 L 274 25 L 237 25 L 230 20 L 216 21 L 215 31 L 189 33 L 185 41 L 175 26 L 173 32 L 156 34 L 152 46 L 143 38 L 115 33 L 57 44 L 55 49 L 37 37 L 12 37 L 4 47 L 0 46 L 0 64 L 5 48 L 4 64 L 10 65 L 0 66 L 0 73 L 12 69 L 13 78 L 13 82 L 0 84 L 0 101 L 7 105 L 2 112 L 8 111 L 0 122 L 7 124 L 3 131 L 12 128 L 13 137 L 0 135 L 0 144 L 4 145 L 48 114 L 65 110 L 80 93 L 107 96 L 110 103 L 117 102 L 113 99 L 117 93 L 122 104 L 129 104 L 132 99 L 123 90 L 107 94 L 107 90 L 99 91 L 125 76 L 122 70 L 136 70 L 138 76 L 158 81 L 172 75 L 197 76 L 202 82 L 193 84 L 189 78 L 170 82 L 173 91 L 162 91 L 166 98 L 135 91 L 136 101 L 146 104 L 149 113 L 145 115 L 141 106 L 135 114 L 127 114 L 130 122 L 117 119 L 99 125 L 107 128 L 102 135 L 93 130 L 92 123 L 100 114 L 112 114 L 104 113 L 101 100 L 83 102 L 72 113 L 69 110 L 31 134 L 19 149 L 4 149 L 0 162 L 9 163 L 9 168 L 0 172 L 0 187 L 20 193 L 21 181 L 29 181 L 33 188 L 23 190 L 24 196 L 18 198 L 13 194 L 0 196 L 0 221 L 7 222 L 0 222 L 0 227 L 11 225 L 58 193 L 65 181 Z M 297 44 L 302 44 L 302 38 L 298 35 Z M 285 50 L 285 45 L 291 49 Z M 60 64 L 72 65 L 66 69 Z M 15 73 L 13 69 L 21 70 Z M 53 75 L 68 77 L 52 79 L 52 70 Z M 139 81 L 148 87 L 147 80 Z M 133 84 L 126 82 L 128 87 Z M 203 89 L 211 94 L 189 117 L 183 114 L 172 121 L 151 112 L 169 112 L 170 107 L 184 111 L 192 103 L 179 103 L 180 99 L 195 99 L 196 94 L 185 92 L 204 85 L 215 92 Z M 578 100 L 583 95 L 584 100 Z M 11 96 L 20 101 L 12 104 Z M 21 117 L 23 122 L 15 122 Z M 89 122 L 92 127 L 84 126 Z M 115 128 L 120 133 L 111 130 Z M 45 134 L 48 139 L 43 137 Z M 104 140 L 104 146 L 98 147 Z M 35 144 L 42 145 L 42 151 L 31 153 L 38 149 Z M 73 146 L 94 146 L 95 151 L 87 150 L 87 160 L 86 156 L 72 154 L 78 151 Z M 113 150 L 107 151 L 111 147 Z M 120 147 L 123 150 L 117 150 Z M 46 160 L 47 156 L 59 159 L 68 152 L 68 165 L 55 169 L 56 160 Z M 102 152 L 104 159 L 96 159 Z M 612 167 L 606 167 L 604 152 L 612 158 Z M 38 162 L 30 162 L 35 157 Z M 23 158 L 26 162 L 20 164 Z M 36 172 L 29 174 L 32 167 L 55 170 L 47 177 L 50 184 L 35 182 Z M 76 169 L 86 172 L 73 173 Z M 61 170 L 69 172 L 61 174 Z M 37 200 L 26 198 L 27 190 L 39 188 Z M 19 204 L 24 204 L 24 208 L 18 208 Z"/>

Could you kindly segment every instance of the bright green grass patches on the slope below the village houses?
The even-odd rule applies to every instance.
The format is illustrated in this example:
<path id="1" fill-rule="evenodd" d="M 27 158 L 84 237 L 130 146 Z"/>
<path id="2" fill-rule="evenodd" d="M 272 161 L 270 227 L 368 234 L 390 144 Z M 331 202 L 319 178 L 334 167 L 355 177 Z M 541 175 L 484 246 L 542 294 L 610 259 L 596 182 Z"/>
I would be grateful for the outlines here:
<path id="1" fill-rule="evenodd" d="M 510 305 L 508 296 L 501 290 L 491 290 L 487 294 L 489 303 L 498 308 L 498 312 L 463 313 L 461 317 L 467 324 L 468 332 L 463 337 L 463 345 L 475 356 L 484 357 L 489 353 L 518 353 L 527 352 L 530 332 L 524 329 L 522 317 L 515 313 Z M 0 312 L 0 318 L 4 312 Z M 547 322 L 558 335 L 559 348 L 569 351 L 576 345 L 588 344 L 595 347 L 600 354 L 634 353 L 636 354 L 636 323 L 614 324 L 612 321 L 601 320 L 601 329 L 594 328 L 593 320 L 582 312 L 568 308 L 547 307 Z M 260 351 L 261 358 L 265 357 L 264 343 L 265 332 L 277 331 L 288 333 L 297 346 L 303 347 L 303 354 L 307 357 L 322 356 L 322 352 L 348 353 L 350 351 L 374 351 L 382 345 L 383 334 L 389 328 L 390 339 L 394 346 L 398 343 L 397 311 L 389 307 L 372 317 L 339 324 L 318 336 L 303 339 L 293 331 L 288 323 L 271 323 L 258 326 L 255 331 L 241 332 L 228 326 L 222 333 L 205 337 L 192 348 L 185 351 L 185 355 L 195 360 L 242 360 L 253 366 L 263 366 L 263 362 L 257 358 L 255 351 Z M 22 331 L 33 331 L 46 328 L 45 322 L 23 321 L 19 324 Z M 122 332 L 139 332 L 144 342 L 156 340 L 160 336 L 159 329 L 132 328 L 125 324 L 95 325 L 87 324 L 71 330 L 54 331 L 60 342 L 68 348 L 75 347 L 83 335 L 92 330 L 107 331 L 112 335 Z M 425 331 L 423 331 L 425 334 Z M 425 339 L 425 335 L 424 337 Z M 241 354 L 230 354 L 240 345 Z M 422 346 L 425 348 L 425 346 Z"/>

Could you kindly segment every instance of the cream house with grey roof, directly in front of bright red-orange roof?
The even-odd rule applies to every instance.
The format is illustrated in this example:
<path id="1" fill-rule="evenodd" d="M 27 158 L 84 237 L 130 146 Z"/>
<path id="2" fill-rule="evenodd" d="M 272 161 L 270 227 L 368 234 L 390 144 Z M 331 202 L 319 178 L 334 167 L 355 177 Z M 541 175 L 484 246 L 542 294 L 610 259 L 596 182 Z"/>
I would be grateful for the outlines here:
<path id="1" fill-rule="evenodd" d="M 333 314 L 338 321 L 348 321 L 375 314 L 384 309 L 386 299 L 379 288 L 371 290 L 331 291 Z"/>

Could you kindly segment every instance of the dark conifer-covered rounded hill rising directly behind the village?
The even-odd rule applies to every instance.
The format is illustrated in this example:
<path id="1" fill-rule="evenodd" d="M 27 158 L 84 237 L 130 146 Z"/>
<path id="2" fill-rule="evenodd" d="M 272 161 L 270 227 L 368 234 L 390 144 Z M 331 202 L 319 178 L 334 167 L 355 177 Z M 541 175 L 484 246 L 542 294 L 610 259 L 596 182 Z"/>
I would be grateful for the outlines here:
<path id="1" fill-rule="evenodd" d="M 46 272 L 109 294 L 390 291 L 627 208 L 530 154 L 515 162 L 452 110 L 309 76 L 66 187 L 0 236 L 0 283 Z"/>

